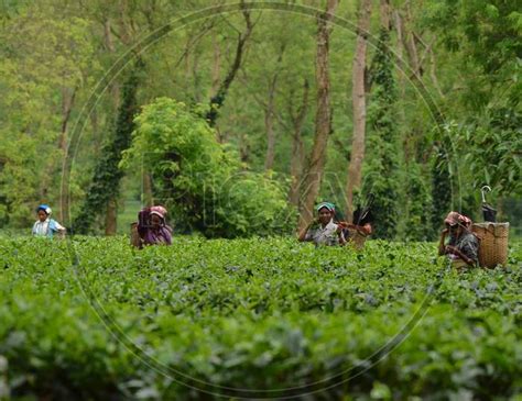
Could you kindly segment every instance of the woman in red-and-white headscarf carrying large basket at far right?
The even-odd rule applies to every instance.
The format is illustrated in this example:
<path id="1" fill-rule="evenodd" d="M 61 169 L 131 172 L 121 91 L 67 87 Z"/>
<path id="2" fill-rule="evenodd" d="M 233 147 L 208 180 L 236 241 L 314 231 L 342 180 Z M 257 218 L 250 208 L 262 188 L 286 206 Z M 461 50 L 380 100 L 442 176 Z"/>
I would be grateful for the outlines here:
<path id="1" fill-rule="evenodd" d="M 446 227 L 441 233 L 438 254 L 447 255 L 457 266 L 476 266 L 479 241 L 471 233 L 471 220 L 460 213 L 449 212 L 444 220 Z M 446 236 L 449 241 L 446 244 Z"/>

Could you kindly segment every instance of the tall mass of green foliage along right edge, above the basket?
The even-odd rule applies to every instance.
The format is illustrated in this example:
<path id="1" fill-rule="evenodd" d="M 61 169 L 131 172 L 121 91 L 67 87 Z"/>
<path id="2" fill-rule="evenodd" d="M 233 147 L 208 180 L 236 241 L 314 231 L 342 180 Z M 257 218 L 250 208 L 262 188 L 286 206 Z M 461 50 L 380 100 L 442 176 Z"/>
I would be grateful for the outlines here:
<path id="1" fill-rule="evenodd" d="M 422 9 L 418 29 L 438 43 L 447 96 L 439 138 L 446 148 L 433 165 L 441 169 L 434 170 L 435 204 L 448 205 L 453 191 L 453 202 L 466 200 L 455 207 L 470 210 L 486 183 L 491 199 L 520 197 L 520 16 L 516 1 L 429 1 Z M 453 188 L 444 185 L 448 178 Z M 435 226 L 441 214 L 434 213 Z"/>

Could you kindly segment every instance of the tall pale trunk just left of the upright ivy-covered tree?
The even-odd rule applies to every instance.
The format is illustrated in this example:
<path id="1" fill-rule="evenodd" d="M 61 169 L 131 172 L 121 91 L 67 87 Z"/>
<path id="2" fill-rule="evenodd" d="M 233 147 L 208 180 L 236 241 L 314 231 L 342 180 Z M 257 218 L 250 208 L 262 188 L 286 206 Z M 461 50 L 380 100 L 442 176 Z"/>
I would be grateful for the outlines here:
<path id="1" fill-rule="evenodd" d="M 361 185 L 361 169 L 365 159 L 366 137 L 366 93 L 365 68 L 367 35 L 370 27 L 371 0 L 361 0 L 357 32 L 356 55 L 352 70 L 354 136 L 346 185 L 346 218 L 351 221 L 354 213 L 354 190 Z"/>

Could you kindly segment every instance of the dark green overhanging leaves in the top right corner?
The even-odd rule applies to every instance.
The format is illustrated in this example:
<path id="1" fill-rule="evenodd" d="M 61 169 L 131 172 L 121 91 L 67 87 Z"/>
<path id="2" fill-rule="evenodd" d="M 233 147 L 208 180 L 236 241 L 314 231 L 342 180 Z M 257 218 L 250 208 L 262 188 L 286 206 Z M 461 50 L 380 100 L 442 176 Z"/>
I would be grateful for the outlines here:
<path id="1" fill-rule="evenodd" d="M 423 11 L 421 25 L 434 31 L 464 73 L 463 100 L 470 115 L 488 104 L 520 104 L 520 2 L 444 0 Z"/>

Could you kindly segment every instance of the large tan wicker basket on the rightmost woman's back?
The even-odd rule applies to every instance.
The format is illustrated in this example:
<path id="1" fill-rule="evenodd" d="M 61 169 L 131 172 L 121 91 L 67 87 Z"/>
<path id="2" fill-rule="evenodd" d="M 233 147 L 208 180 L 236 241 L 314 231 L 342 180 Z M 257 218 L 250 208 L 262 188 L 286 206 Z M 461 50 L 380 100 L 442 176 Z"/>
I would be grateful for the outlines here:
<path id="1" fill-rule="evenodd" d="M 479 265 L 482 267 L 505 265 L 509 223 L 475 223 L 471 231 L 480 240 Z"/>

